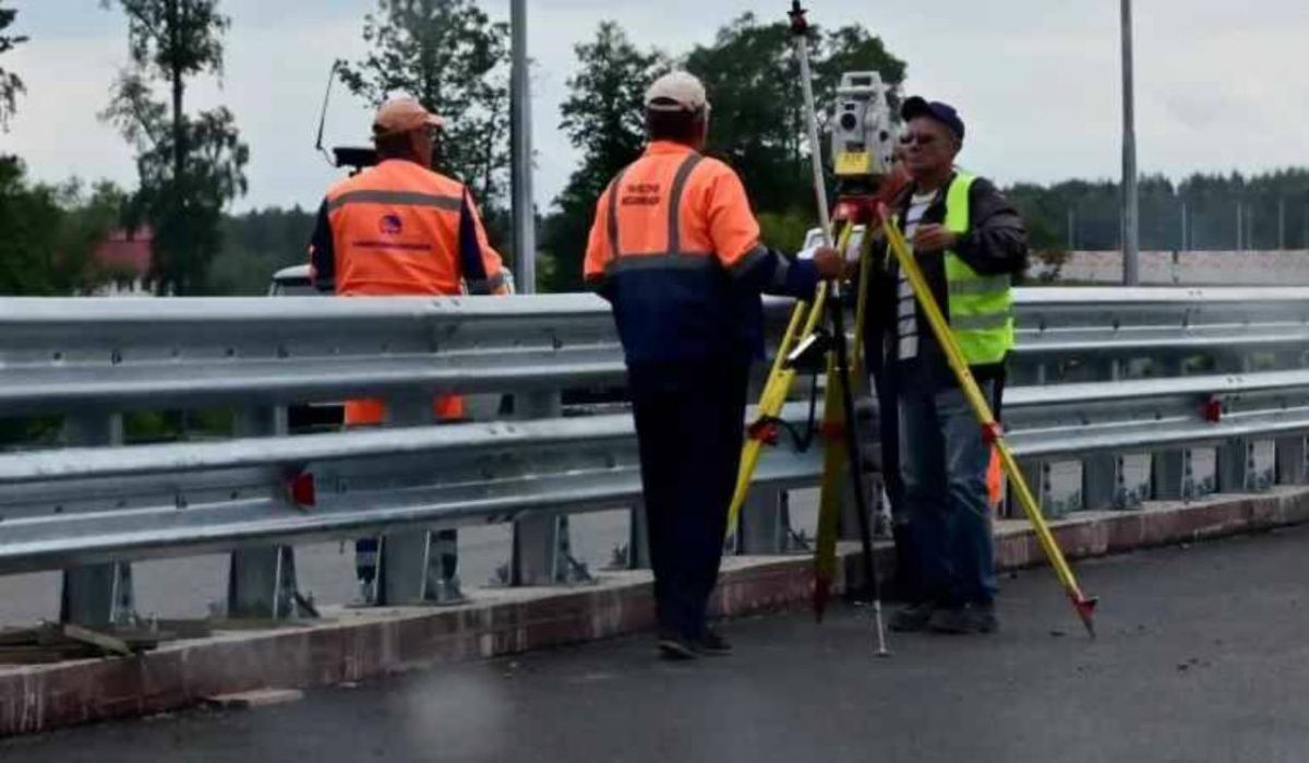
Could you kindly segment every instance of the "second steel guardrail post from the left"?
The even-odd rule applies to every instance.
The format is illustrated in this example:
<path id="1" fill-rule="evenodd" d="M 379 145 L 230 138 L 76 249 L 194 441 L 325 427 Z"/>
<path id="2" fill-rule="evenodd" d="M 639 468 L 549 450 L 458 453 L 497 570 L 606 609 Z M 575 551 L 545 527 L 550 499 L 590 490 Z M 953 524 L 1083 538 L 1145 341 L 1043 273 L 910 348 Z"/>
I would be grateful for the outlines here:
<path id="1" fill-rule="evenodd" d="M 276 437 L 288 431 L 287 409 L 253 408 L 237 412 L 233 437 Z M 296 553 L 289 545 L 241 548 L 228 565 L 228 616 L 268 620 L 314 616 L 300 595 Z"/>

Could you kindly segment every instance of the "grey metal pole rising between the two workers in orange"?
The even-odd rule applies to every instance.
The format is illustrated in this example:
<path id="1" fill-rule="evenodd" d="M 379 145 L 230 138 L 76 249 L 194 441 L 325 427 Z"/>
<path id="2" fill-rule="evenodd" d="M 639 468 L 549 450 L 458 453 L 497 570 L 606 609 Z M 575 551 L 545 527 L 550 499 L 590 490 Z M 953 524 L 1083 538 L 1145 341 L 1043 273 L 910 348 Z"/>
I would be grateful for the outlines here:
<path id="1" fill-rule="evenodd" d="M 512 0 L 513 66 L 509 72 L 511 143 L 513 164 L 514 286 L 537 292 L 537 215 L 531 199 L 531 83 L 528 76 L 528 1 Z"/>

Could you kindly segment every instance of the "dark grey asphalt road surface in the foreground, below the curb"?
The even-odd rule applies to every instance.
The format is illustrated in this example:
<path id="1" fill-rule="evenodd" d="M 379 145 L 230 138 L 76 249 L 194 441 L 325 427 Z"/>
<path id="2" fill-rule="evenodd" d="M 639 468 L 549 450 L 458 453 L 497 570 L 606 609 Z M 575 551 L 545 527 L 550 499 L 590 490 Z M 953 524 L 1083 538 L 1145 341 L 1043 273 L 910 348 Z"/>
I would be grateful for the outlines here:
<path id="1" fill-rule="evenodd" d="M 1090 641 L 1047 570 L 1004 582 L 994 636 L 893 637 L 863 610 L 730 623 L 733 657 L 649 637 L 444 666 L 251 711 L 0 742 L 105 760 L 1309 760 L 1309 530 L 1080 565 Z"/>

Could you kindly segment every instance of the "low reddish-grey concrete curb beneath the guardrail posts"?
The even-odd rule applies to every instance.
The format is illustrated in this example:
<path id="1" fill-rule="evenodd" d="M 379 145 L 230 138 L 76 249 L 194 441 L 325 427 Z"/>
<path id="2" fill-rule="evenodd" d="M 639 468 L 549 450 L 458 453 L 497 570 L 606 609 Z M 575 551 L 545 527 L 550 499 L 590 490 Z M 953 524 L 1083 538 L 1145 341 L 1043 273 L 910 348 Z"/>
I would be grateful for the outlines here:
<path id="1" fill-rule="evenodd" d="M 1305 522 L 1309 490 L 1278 488 L 1079 514 L 1055 523 L 1055 534 L 1069 557 L 1085 558 Z M 1000 568 L 1045 562 L 1025 523 L 1001 522 L 996 535 Z M 878 548 L 880 569 L 889 569 L 890 551 Z M 846 545 L 842 555 L 846 579 L 838 581 L 838 590 L 859 570 L 857 547 Z M 808 556 L 736 557 L 724 562 L 712 606 L 720 616 L 734 617 L 808 604 L 810 590 Z M 598 585 L 579 589 L 490 590 L 450 608 L 329 610 L 323 621 L 308 627 L 221 633 L 132 658 L 0 667 L 0 735 L 145 716 L 267 687 L 357 682 L 637 633 L 653 624 L 644 572 L 609 573 Z"/>

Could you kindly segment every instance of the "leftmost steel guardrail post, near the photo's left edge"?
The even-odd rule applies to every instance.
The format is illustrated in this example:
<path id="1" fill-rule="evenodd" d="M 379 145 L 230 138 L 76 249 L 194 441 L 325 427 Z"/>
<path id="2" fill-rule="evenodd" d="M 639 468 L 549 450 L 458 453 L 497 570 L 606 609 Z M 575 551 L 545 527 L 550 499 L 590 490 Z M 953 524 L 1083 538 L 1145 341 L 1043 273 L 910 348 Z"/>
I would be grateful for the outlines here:
<path id="1" fill-rule="evenodd" d="M 123 444 L 120 413 L 79 413 L 64 418 L 68 446 Z M 63 576 L 59 620 L 79 625 L 118 625 L 136 619 L 132 566 L 126 561 L 68 568 Z"/>

